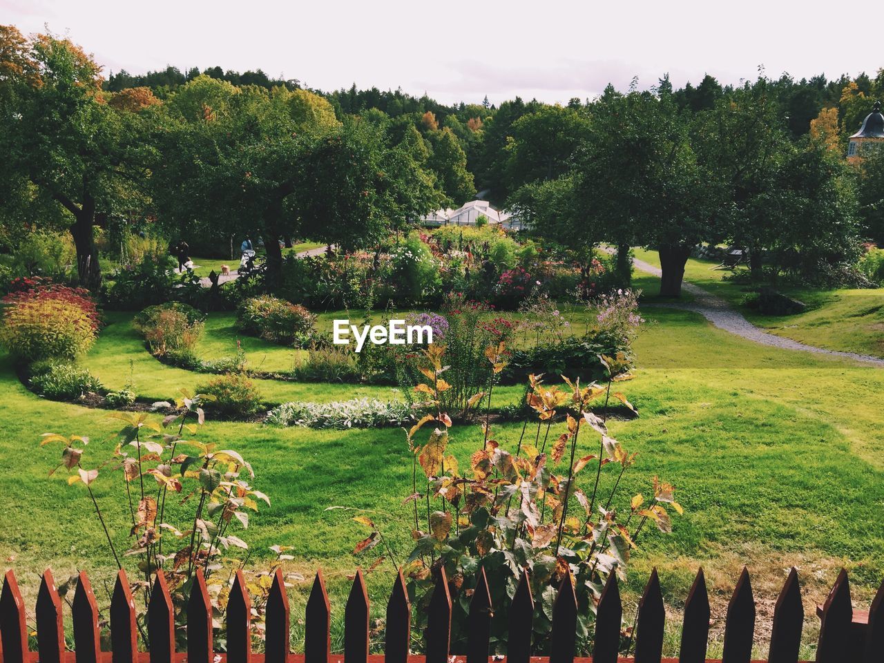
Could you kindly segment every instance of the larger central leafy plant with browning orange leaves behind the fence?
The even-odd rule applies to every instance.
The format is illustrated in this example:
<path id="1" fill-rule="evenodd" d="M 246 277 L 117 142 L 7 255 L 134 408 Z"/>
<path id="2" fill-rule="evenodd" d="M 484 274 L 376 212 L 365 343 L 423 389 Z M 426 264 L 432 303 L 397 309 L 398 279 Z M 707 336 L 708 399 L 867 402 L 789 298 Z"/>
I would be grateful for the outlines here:
<path id="1" fill-rule="evenodd" d="M 486 348 L 492 371 L 503 369 L 503 349 Z M 523 569 L 528 569 L 535 598 L 534 647 L 537 653 L 545 653 L 552 629 L 552 604 L 570 571 L 579 603 L 578 651 L 586 652 L 594 606 L 606 578 L 612 573 L 625 577 L 629 553 L 636 549 L 649 521 L 660 531 L 669 532 L 670 507 L 682 512 L 673 486 L 656 477 L 647 499 L 641 493 L 631 497 L 621 494 L 622 477 L 634 465 L 636 453 L 628 453 L 613 438 L 606 419 L 612 397 L 635 411 L 623 394 L 612 393 L 613 385 L 629 379 L 628 363 L 600 357 L 606 381 L 587 386 L 565 378 L 567 388 L 561 388 L 531 376 L 526 401 L 532 415 L 518 440 L 508 444 L 492 430 L 491 389 L 487 394 L 476 393 L 469 399 L 472 406 L 489 396 L 482 422 L 483 445 L 468 461 L 461 461 L 450 450 L 452 420 L 441 408 L 442 394 L 451 388 L 443 377 L 449 370 L 445 355 L 445 348 L 434 346 L 423 354 L 422 372 L 427 382 L 417 388 L 437 409 L 407 434 L 413 471 L 411 494 L 405 503 L 411 505 L 415 547 L 403 572 L 409 595 L 415 597 L 413 623 L 418 631 L 426 626 L 435 576 L 444 567 L 453 595 L 452 651 L 465 651 L 469 601 L 477 572 L 483 568 L 495 606 L 492 653 L 506 652 L 510 598 Z M 566 430 L 551 436 L 552 424 L 562 419 Z M 428 427 L 431 431 L 423 437 Z M 420 479 L 418 468 L 423 470 Z M 613 469 L 614 476 L 603 484 L 601 476 L 609 471 L 606 468 Z M 610 486 L 609 490 L 603 490 L 603 485 Z M 370 550 L 383 540 L 373 522 L 354 520 L 371 530 L 354 552 Z M 380 561 L 383 558 L 372 566 Z"/>

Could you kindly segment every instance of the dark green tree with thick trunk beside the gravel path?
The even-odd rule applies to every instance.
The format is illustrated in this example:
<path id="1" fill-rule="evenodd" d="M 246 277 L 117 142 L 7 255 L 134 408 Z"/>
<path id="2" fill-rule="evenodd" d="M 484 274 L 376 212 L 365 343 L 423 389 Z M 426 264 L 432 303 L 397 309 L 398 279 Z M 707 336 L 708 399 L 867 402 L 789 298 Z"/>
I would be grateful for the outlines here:
<path id="1" fill-rule="evenodd" d="M 618 247 L 659 251 L 660 294 L 681 294 L 690 250 L 713 232 L 716 192 L 690 147 L 688 126 L 669 95 L 609 95 L 591 109 L 577 166 L 577 208 Z M 628 273 L 628 265 L 619 270 Z M 624 273 L 625 276 L 625 273 Z"/>

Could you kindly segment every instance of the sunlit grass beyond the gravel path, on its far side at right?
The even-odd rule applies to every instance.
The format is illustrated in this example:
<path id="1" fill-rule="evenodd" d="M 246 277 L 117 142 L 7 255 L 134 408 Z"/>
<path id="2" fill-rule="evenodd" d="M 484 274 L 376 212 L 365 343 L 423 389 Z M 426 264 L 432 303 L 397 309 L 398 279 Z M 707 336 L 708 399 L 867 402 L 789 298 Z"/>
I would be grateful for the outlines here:
<path id="1" fill-rule="evenodd" d="M 636 258 L 659 267 L 655 251 L 636 249 Z M 729 301 L 758 327 L 812 346 L 884 357 L 884 288 L 825 291 L 784 286 L 782 292 L 804 301 L 809 310 L 796 316 L 765 316 L 743 306 L 748 286 L 724 280 L 731 272 L 711 270 L 715 264 L 690 258 L 684 278 Z M 659 280 L 652 281 L 647 288 L 651 296 L 659 292 Z M 690 301 L 690 294 L 685 298 Z"/>

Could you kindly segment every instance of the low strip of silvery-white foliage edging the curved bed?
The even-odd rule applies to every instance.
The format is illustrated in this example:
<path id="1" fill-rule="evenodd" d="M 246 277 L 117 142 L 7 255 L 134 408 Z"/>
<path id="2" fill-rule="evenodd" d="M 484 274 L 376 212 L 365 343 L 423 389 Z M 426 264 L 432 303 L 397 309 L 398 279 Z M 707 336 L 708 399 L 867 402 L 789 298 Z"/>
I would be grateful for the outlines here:
<path id="1" fill-rule="evenodd" d="M 412 408 L 400 400 L 354 399 L 331 403 L 293 401 L 267 413 L 267 423 L 277 426 L 337 429 L 400 426 L 414 419 Z"/>

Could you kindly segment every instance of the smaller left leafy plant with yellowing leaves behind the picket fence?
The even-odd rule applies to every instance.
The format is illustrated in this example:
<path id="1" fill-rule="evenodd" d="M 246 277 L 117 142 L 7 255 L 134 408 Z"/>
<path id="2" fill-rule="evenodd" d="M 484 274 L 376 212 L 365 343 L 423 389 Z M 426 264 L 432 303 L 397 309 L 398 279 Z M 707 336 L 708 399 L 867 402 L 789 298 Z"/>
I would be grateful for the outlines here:
<path id="1" fill-rule="evenodd" d="M 232 575 L 248 558 L 249 547 L 240 530 L 248 528 L 250 514 L 257 512 L 260 501 L 270 505 L 270 499 L 248 483 L 255 475 L 239 452 L 194 439 L 205 421 L 202 407 L 209 400 L 202 394 L 183 393 L 176 400 L 177 411 L 161 422 L 142 412 L 110 415 L 124 425 L 105 458 L 89 460 L 87 448 L 95 445 L 90 447 L 84 436 L 42 435 L 41 446 L 62 446 L 61 460 L 50 476 L 66 470 L 67 483 L 86 490 L 116 566 L 123 568 L 125 563 L 130 577 L 140 578 L 132 590 L 136 606 L 141 607 L 137 624 L 144 644 L 148 644 L 145 610 L 156 572 L 164 572 L 175 621 L 181 626 L 187 623 L 187 597 L 194 576 L 202 569 L 218 618 L 225 609 Z M 115 502 L 97 499 L 93 490 L 97 481 L 116 482 L 119 490 L 111 493 Z M 125 540 L 111 536 L 105 516 L 111 504 L 131 521 Z M 284 550 L 274 546 L 274 567 L 279 560 L 291 559 Z M 267 577 L 274 571 L 248 583 L 249 591 L 257 594 L 256 606 L 262 605 L 262 595 L 266 598 Z M 263 630 L 262 618 L 263 610 L 256 610 L 252 619 L 258 635 Z M 216 635 L 223 643 L 224 633 L 219 629 Z M 176 629 L 176 633 L 183 638 L 185 630 Z"/>

